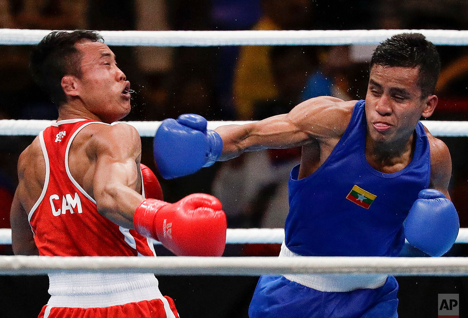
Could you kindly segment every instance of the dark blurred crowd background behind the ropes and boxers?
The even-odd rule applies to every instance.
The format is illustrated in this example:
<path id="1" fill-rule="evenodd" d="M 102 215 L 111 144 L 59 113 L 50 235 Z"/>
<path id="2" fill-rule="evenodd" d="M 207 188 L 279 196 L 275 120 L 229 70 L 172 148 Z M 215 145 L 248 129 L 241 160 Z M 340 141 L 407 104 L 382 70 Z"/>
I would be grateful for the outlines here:
<path id="1" fill-rule="evenodd" d="M 0 28 L 22 29 L 468 29 L 467 14 L 468 1 L 462 0 L 0 0 Z M 259 120 L 286 113 L 301 101 L 316 96 L 364 99 L 368 62 L 374 47 L 111 49 L 136 91 L 132 97 L 132 112 L 124 120 L 163 120 L 182 113 L 201 114 L 208 120 Z M 57 117 L 56 107 L 30 76 L 30 50 L 30 46 L 0 47 L 0 119 L 52 120 Z M 436 88 L 439 106 L 429 120 L 467 120 L 468 47 L 439 46 L 438 50 L 442 60 Z M 9 205 L 17 183 L 17 159 L 32 139 L 0 136 L 0 228 L 9 227 Z M 460 214 L 461 227 L 468 227 L 468 138 L 442 140 L 452 154 L 450 193 Z M 152 139 L 142 138 L 142 146 L 142 163 L 155 170 Z M 246 153 L 188 177 L 159 179 L 169 202 L 193 192 L 217 196 L 223 203 L 230 228 L 283 227 L 288 212 L 289 171 L 299 158 L 300 149 L 297 148 Z M 3 246 L 1 251 L 11 254 L 11 247 Z M 277 255 L 278 252 L 278 245 L 228 246 L 226 250 L 228 256 Z M 466 251 L 460 245 L 451 253 L 464 255 Z M 160 254 L 168 252 L 161 250 Z M 10 282 L 9 279 L 3 277 L 0 286 L 1 282 Z M 189 290 L 190 284 L 197 285 L 193 293 L 200 284 L 204 290 L 211 288 L 206 280 L 172 279 L 172 283 L 176 281 L 178 286 L 182 284 Z M 200 313 L 200 316 L 193 309 L 190 310 L 195 316 L 182 310 L 181 317 L 246 317 L 246 306 L 256 279 L 225 277 L 223 282 L 227 279 L 232 280 L 232 293 L 242 295 L 234 297 L 237 303 L 232 299 L 225 301 L 225 309 L 212 314 Z M 402 293 L 404 290 L 411 293 L 418 282 L 419 286 L 425 282 L 416 278 L 402 279 Z M 437 278 L 431 279 L 431 286 L 435 280 Z M 29 278 L 22 283 L 15 282 L 10 283 L 20 286 L 18 290 L 31 284 Z M 455 283 L 450 284 L 453 287 Z M 464 288 L 462 283 L 456 286 Z M 165 287 L 161 283 L 163 293 Z M 170 292 L 166 293 L 170 296 Z M 38 303 L 47 297 L 44 290 L 38 294 L 42 295 Z M 418 297 L 424 300 L 432 296 Z M 14 302 L 13 297 L 7 299 L 6 302 Z M 189 306 L 190 299 L 185 301 Z M 404 300 L 401 302 L 401 317 L 423 317 L 414 314 Z M 436 304 L 432 306 L 435 308 Z M 226 309 L 228 307 L 231 309 Z M 435 317 L 435 311 L 432 316 Z M 2 316 L 0 309 L 0 317 L 9 316 Z"/>

